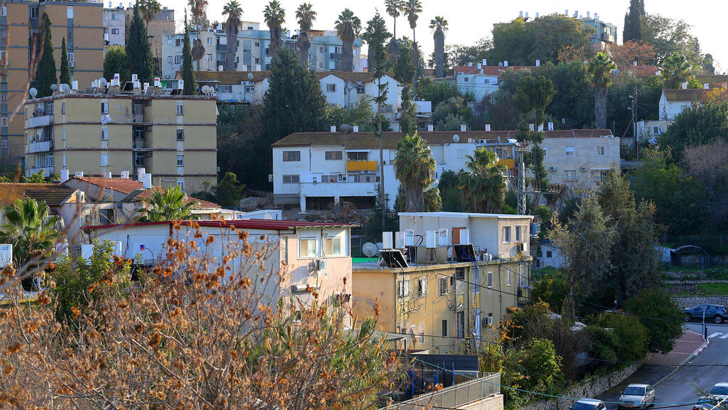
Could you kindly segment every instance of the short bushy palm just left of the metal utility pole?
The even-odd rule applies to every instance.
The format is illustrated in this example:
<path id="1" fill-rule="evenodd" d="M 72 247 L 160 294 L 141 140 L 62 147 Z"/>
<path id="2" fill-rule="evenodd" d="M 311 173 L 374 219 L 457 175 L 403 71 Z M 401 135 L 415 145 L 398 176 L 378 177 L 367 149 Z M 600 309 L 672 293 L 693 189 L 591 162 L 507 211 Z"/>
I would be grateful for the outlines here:
<path id="1" fill-rule="evenodd" d="M 467 156 L 467 174 L 459 184 L 463 205 L 471 212 L 500 213 L 505 204 L 507 167 L 494 151 L 476 149 Z"/>

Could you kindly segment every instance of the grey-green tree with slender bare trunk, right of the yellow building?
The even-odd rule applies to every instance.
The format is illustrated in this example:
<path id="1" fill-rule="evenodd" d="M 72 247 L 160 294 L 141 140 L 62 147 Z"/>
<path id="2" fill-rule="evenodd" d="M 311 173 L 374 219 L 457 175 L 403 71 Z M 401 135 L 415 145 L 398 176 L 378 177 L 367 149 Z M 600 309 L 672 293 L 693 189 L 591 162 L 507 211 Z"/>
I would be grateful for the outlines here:
<path id="1" fill-rule="evenodd" d="M 582 296 L 589 295 L 612 267 L 609 256 L 614 243 L 614 227 L 594 195 L 582 200 L 568 224 L 561 224 L 556 213 L 551 217 L 551 224 L 553 228 L 548 237 L 561 247 L 566 260 L 564 270 L 569 275 L 567 314 L 573 319 L 577 292 Z"/>

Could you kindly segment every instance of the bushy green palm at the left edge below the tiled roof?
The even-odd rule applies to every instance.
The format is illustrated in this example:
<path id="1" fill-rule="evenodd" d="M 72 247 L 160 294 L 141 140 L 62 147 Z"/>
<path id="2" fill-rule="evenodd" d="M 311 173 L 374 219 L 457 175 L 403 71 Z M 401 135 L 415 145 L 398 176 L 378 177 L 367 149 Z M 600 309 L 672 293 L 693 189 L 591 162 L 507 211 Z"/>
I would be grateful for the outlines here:
<path id="1" fill-rule="evenodd" d="M 4 208 L 4 223 L 0 226 L 0 242 L 12 243 L 12 261 L 23 267 L 28 261 L 40 261 L 55 251 L 55 244 L 63 233 L 56 227 L 60 216 L 50 216 L 45 202 L 33 198 L 16 200 Z M 23 279 L 23 287 L 31 290 L 32 277 Z"/>

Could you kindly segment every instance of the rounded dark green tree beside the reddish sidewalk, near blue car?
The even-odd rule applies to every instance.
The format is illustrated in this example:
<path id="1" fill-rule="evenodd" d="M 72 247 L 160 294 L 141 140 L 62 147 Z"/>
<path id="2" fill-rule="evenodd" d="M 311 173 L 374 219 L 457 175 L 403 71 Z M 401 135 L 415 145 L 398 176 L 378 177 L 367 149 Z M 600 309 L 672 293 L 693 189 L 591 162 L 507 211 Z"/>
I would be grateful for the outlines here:
<path id="1" fill-rule="evenodd" d="M 647 331 L 651 352 L 666 354 L 675 347 L 675 339 L 683 333 L 683 315 L 668 293 L 648 288 L 625 302 L 625 310 L 638 315 Z"/>

